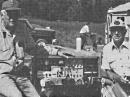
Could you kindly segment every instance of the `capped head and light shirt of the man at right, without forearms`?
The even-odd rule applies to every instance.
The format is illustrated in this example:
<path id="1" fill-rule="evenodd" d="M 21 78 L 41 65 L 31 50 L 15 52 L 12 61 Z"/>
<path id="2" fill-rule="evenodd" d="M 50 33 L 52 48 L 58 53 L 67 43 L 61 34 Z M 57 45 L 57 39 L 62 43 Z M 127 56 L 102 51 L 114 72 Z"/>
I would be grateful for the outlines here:
<path id="1" fill-rule="evenodd" d="M 116 22 L 120 24 L 116 25 Z M 103 48 L 101 67 L 102 69 L 112 69 L 120 76 L 125 76 L 125 70 L 130 67 L 128 65 L 130 64 L 129 42 L 124 41 L 126 34 L 125 24 L 122 20 L 116 20 L 115 24 L 110 26 L 110 31 L 112 33 L 112 41 Z"/>

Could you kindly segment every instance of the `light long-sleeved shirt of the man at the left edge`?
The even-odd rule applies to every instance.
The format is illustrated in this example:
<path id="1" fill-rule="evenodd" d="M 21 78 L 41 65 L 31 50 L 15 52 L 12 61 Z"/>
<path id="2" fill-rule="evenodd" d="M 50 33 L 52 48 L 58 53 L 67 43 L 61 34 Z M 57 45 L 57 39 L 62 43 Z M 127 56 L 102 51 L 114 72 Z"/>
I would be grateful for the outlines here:
<path id="1" fill-rule="evenodd" d="M 23 48 L 18 45 L 18 41 L 14 44 L 15 36 L 9 31 L 0 31 L 0 74 L 13 69 L 16 57 L 18 59 L 24 57 Z"/>

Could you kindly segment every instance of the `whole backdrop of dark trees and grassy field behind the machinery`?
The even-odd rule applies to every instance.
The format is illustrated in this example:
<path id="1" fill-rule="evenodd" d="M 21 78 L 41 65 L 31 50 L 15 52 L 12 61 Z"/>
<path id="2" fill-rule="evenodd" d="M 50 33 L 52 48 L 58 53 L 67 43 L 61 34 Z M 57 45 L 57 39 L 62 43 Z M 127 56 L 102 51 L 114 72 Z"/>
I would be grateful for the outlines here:
<path id="1" fill-rule="evenodd" d="M 0 0 L 0 5 L 3 1 Z M 76 37 L 89 22 L 90 31 L 105 36 L 107 10 L 130 0 L 17 0 L 31 23 L 56 30 L 60 45 L 75 48 Z"/>

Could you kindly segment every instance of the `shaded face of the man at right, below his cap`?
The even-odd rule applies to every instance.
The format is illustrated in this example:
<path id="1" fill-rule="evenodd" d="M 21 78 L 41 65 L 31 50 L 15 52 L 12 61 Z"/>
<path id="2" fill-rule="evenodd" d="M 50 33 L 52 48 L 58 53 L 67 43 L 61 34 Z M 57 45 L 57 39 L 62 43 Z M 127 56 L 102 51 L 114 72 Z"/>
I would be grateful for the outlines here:
<path id="1" fill-rule="evenodd" d="M 124 40 L 126 29 L 125 27 L 111 28 L 112 38 L 114 42 L 120 42 Z"/>

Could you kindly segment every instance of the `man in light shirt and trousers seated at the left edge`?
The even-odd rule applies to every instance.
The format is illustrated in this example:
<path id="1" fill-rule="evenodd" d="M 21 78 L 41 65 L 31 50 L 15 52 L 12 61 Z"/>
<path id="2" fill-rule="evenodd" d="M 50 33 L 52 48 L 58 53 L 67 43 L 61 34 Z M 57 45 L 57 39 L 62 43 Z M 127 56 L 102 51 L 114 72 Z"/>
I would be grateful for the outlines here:
<path id="1" fill-rule="evenodd" d="M 39 97 L 26 77 L 11 72 L 24 59 L 23 45 L 15 35 L 17 22 L 12 21 L 6 10 L 0 13 L 0 94 L 6 97 Z M 17 39 L 16 39 L 17 38 Z"/>

